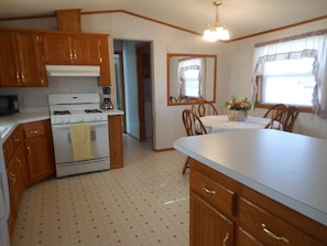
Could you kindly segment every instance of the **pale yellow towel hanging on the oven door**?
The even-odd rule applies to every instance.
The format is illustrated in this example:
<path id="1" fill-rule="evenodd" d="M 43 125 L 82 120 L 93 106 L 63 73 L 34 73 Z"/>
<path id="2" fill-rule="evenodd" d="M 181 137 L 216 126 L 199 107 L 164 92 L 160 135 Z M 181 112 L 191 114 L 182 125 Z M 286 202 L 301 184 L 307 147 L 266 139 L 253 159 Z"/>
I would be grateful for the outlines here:
<path id="1" fill-rule="evenodd" d="M 74 161 L 94 158 L 89 124 L 74 124 L 69 126 Z"/>

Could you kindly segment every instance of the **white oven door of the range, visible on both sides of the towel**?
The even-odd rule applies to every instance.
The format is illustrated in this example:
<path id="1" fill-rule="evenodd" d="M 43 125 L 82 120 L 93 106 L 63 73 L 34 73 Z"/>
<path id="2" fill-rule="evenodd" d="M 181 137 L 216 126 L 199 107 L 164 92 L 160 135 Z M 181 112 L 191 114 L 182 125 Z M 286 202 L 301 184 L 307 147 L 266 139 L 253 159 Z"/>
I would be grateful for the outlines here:
<path id="1" fill-rule="evenodd" d="M 73 163 L 69 124 L 52 125 L 55 163 Z M 109 158 L 108 121 L 90 122 L 94 159 Z M 89 161 L 89 160 L 88 160 Z"/>

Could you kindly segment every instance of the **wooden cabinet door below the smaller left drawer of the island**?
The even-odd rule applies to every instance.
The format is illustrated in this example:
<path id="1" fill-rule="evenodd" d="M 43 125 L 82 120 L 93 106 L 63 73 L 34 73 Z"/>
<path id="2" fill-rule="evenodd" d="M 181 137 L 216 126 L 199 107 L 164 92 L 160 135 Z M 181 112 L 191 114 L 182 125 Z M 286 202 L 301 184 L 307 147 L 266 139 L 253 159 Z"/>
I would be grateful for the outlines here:
<path id="1" fill-rule="evenodd" d="M 190 194 L 190 246 L 235 245 L 233 223 L 195 193 Z"/>

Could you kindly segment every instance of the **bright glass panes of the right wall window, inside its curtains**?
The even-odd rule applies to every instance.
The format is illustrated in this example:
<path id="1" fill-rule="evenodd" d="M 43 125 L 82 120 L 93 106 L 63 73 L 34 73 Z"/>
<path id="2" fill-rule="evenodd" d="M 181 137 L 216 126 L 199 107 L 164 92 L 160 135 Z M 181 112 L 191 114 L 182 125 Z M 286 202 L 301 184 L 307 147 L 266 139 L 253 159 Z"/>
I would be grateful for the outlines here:
<path id="1" fill-rule="evenodd" d="M 266 62 L 260 88 L 261 104 L 286 104 L 312 107 L 314 58 Z"/>

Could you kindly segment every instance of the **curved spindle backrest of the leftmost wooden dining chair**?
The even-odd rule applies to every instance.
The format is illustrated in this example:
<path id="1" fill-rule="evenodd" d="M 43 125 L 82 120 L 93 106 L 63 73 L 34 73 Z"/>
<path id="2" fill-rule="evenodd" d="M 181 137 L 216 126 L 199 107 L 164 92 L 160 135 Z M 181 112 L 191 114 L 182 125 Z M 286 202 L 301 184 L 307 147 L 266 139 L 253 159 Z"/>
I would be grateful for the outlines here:
<path id="1" fill-rule="evenodd" d="M 207 130 L 201 120 L 190 109 L 184 109 L 182 113 L 182 118 L 187 136 L 207 133 Z"/>

